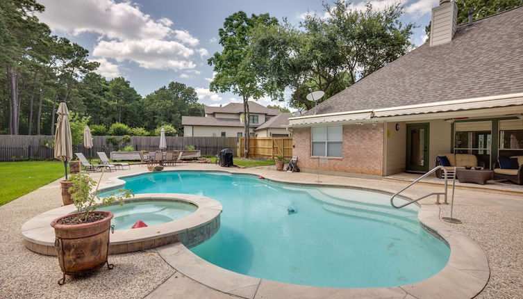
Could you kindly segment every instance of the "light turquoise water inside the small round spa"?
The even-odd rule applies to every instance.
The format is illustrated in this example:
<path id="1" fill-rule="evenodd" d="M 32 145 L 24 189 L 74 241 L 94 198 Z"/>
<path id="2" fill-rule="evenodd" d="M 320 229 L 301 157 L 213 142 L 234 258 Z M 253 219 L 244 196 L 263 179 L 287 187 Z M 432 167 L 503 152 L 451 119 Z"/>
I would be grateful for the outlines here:
<path id="1" fill-rule="evenodd" d="M 115 204 L 100 209 L 115 214 L 111 220 L 115 229 L 130 229 L 138 220 L 147 226 L 168 223 L 190 215 L 197 207 L 185 202 L 150 201 L 128 202 L 123 206 Z"/>

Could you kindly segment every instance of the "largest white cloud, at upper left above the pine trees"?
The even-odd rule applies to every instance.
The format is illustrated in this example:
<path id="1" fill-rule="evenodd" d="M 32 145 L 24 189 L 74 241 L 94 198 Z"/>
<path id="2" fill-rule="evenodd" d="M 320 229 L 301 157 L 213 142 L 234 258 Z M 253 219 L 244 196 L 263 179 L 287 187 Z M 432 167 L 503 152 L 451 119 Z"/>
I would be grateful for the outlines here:
<path id="1" fill-rule="evenodd" d="M 194 48 L 199 40 L 188 31 L 173 29 L 171 19 L 154 19 L 131 1 L 41 0 L 41 3 L 46 10 L 38 17 L 51 29 L 72 35 L 98 35 L 92 51 L 94 59 L 133 61 L 147 69 L 190 70 L 196 67 L 194 54 L 202 53 Z M 109 73 L 118 65 L 111 67 Z"/>

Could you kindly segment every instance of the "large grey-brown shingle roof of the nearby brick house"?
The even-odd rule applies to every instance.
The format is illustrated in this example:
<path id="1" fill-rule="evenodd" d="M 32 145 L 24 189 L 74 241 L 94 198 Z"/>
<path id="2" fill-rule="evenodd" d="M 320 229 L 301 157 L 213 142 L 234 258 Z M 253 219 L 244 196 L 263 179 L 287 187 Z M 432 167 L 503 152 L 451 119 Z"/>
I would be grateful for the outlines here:
<path id="1" fill-rule="evenodd" d="M 317 114 L 523 92 L 522 20 L 523 6 L 459 26 L 451 42 L 410 51 L 319 104 Z"/>

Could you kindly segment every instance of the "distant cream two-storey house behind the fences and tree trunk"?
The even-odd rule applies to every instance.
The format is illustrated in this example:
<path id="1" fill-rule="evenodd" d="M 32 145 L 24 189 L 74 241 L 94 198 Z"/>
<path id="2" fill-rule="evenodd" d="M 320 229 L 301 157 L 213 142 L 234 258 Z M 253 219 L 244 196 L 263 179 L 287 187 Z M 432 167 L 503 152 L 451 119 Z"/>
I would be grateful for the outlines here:
<path id="1" fill-rule="evenodd" d="M 284 126 L 291 115 L 249 101 L 249 134 L 251 137 L 290 136 Z M 182 116 L 183 136 L 242 137 L 244 114 L 242 103 L 205 106 L 205 116 Z"/>

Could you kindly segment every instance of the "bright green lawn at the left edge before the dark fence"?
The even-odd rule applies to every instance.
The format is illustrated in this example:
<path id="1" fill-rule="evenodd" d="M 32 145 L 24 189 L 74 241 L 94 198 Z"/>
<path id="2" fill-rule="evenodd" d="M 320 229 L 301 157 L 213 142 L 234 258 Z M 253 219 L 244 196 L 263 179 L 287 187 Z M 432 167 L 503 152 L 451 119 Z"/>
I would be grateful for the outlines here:
<path id="1" fill-rule="evenodd" d="M 0 206 L 64 175 L 63 162 L 0 163 Z"/>

